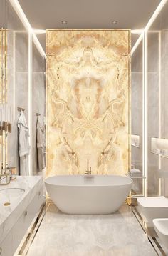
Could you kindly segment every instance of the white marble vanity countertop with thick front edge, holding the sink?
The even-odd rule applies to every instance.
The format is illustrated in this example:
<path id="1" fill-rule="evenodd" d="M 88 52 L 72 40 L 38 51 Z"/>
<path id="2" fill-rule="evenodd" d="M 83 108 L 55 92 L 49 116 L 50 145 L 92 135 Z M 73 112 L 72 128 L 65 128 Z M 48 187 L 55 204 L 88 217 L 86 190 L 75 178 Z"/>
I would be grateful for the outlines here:
<path id="1" fill-rule="evenodd" d="M 42 184 L 41 176 L 17 176 L 10 184 L 0 185 L 0 243 L 26 210 Z M 16 188 L 22 191 L 19 197 L 12 196 Z M 11 198 L 8 195 L 9 189 L 14 189 L 11 190 Z M 3 195 L 11 203 L 10 205 L 4 206 Z"/>

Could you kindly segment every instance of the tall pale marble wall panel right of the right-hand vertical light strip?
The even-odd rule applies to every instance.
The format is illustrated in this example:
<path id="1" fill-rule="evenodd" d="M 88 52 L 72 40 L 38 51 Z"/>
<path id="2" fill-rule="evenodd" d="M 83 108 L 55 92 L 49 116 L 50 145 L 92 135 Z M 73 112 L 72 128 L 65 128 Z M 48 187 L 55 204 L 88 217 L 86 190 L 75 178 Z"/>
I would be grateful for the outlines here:
<path id="1" fill-rule="evenodd" d="M 147 34 L 147 195 L 159 195 L 159 157 L 151 151 L 151 137 L 159 137 L 159 33 Z"/>

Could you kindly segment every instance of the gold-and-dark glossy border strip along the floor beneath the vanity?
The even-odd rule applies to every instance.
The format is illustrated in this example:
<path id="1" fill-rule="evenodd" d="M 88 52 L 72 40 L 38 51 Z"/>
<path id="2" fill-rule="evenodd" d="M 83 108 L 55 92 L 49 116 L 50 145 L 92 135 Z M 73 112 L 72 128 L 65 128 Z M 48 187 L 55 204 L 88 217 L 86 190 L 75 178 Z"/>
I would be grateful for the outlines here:
<path id="1" fill-rule="evenodd" d="M 34 217 L 33 221 L 31 222 L 30 227 L 28 228 L 26 234 L 24 235 L 23 239 L 21 240 L 19 247 L 17 248 L 16 252 L 14 253 L 14 256 L 27 255 L 28 249 L 31 246 L 31 243 L 33 242 L 33 239 L 36 235 L 36 232 L 38 231 L 38 228 L 41 225 L 41 222 L 43 220 L 45 213 L 46 213 L 46 203 L 44 203 L 41 206 L 37 215 Z"/>

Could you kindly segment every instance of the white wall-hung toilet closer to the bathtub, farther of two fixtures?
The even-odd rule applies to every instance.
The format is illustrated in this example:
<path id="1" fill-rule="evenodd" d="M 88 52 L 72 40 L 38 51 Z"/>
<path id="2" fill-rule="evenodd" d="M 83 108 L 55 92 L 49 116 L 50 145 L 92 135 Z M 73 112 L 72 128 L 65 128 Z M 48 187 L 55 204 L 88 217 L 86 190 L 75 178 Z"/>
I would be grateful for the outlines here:
<path id="1" fill-rule="evenodd" d="M 168 218 L 167 197 L 140 197 L 137 202 L 137 210 L 144 218 L 147 227 L 153 227 L 154 219 Z"/>

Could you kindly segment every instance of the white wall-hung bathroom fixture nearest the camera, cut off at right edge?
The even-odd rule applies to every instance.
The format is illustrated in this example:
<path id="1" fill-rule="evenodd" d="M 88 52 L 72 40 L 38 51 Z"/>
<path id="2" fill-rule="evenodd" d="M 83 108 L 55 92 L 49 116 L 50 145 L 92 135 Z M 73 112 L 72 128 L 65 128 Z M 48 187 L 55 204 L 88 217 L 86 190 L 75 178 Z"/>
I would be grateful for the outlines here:
<path id="1" fill-rule="evenodd" d="M 167 219 L 154 219 L 154 230 L 157 232 L 157 235 L 160 241 L 163 243 L 164 247 L 168 250 L 168 218 Z"/>

